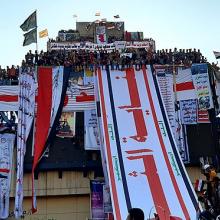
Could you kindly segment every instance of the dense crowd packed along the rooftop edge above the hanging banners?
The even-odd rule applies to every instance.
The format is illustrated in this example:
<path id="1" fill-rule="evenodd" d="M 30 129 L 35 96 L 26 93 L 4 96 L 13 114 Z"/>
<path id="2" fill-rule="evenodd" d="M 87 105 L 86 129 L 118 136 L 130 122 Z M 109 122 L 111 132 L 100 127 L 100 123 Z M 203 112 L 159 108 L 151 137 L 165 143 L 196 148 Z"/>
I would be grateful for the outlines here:
<path id="1" fill-rule="evenodd" d="M 112 69 L 123 69 L 132 65 L 140 68 L 142 65 L 162 64 L 162 65 L 186 65 L 192 63 L 205 63 L 206 58 L 196 49 L 174 50 L 145 50 L 144 48 L 129 48 L 123 51 L 118 50 L 62 50 L 62 51 L 40 51 L 32 53 L 31 50 L 26 54 L 22 66 L 29 65 L 72 65 L 76 69 L 90 68 L 95 66 L 110 65 Z"/>

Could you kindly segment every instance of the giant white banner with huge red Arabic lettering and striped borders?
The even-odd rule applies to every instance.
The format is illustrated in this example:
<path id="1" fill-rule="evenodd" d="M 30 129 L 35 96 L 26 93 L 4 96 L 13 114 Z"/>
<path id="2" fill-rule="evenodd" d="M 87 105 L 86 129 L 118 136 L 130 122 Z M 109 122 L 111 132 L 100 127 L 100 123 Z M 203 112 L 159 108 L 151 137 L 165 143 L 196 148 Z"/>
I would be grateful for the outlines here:
<path id="1" fill-rule="evenodd" d="M 139 207 L 145 216 L 155 208 L 160 219 L 196 219 L 196 194 L 151 67 L 97 71 L 114 218 Z"/>

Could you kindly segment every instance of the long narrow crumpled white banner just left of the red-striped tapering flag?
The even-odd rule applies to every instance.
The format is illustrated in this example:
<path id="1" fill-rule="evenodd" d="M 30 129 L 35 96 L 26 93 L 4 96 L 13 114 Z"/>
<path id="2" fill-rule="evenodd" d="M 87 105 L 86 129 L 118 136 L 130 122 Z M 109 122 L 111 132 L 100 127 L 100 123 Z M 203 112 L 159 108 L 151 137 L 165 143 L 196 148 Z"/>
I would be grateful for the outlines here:
<path id="1" fill-rule="evenodd" d="M 37 89 L 36 71 L 24 69 L 19 75 L 19 110 L 17 127 L 17 173 L 15 192 L 15 217 L 23 214 L 23 170 L 26 142 L 34 120 L 35 93 Z"/>

